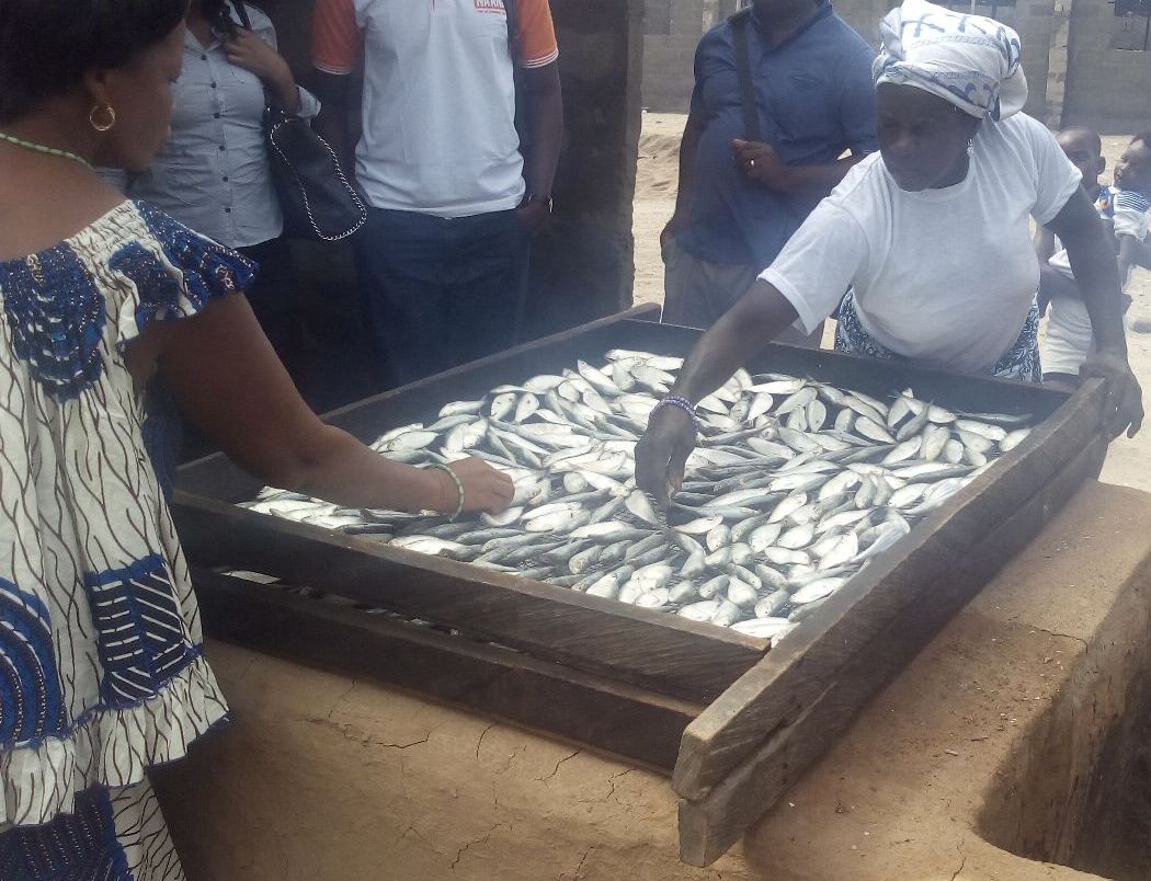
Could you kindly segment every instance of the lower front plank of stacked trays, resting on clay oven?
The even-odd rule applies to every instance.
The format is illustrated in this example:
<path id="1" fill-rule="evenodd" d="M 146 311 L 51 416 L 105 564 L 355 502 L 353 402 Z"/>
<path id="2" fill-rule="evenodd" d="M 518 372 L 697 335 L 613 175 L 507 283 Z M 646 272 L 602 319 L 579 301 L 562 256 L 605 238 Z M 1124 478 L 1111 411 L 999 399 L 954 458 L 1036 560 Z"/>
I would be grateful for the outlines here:
<path id="1" fill-rule="evenodd" d="M 382 681 L 669 774 L 702 705 L 360 610 L 193 569 L 209 636 Z"/>

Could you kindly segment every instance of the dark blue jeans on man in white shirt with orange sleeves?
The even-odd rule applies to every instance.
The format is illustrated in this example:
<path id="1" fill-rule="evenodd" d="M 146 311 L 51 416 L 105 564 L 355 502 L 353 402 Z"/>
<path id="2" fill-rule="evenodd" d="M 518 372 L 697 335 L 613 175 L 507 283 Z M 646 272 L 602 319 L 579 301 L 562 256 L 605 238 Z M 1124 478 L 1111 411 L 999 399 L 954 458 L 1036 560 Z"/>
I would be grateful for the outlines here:
<path id="1" fill-rule="evenodd" d="M 372 209 L 356 254 L 365 320 L 388 385 L 516 344 L 531 236 L 514 210 L 444 220 Z"/>

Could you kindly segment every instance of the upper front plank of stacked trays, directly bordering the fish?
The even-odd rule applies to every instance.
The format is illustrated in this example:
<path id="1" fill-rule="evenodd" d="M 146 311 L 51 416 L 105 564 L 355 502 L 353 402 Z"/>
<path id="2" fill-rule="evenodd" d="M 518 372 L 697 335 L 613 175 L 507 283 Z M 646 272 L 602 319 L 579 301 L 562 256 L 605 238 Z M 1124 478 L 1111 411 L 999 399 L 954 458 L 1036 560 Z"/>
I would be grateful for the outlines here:
<path id="1" fill-rule="evenodd" d="M 197 565 L 306 584 L 695 703 L 718 697 L 769 645 L 727 628 L 212 499 L 184 497 L 175 515 Z"/>

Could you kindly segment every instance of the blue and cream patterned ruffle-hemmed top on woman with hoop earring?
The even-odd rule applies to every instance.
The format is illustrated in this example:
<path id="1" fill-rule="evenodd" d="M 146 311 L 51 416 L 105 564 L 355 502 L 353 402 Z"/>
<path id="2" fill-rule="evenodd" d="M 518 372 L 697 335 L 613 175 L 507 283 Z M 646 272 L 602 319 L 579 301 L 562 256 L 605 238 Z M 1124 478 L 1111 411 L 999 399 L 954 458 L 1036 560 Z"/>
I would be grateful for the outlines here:
<path id="1" fill-rule="evenodd" d="M 123 347 L 251 278 L 135 202 L 0 262 L 0 867 L 12 827 L 143 783 L 226 718 Z"/>

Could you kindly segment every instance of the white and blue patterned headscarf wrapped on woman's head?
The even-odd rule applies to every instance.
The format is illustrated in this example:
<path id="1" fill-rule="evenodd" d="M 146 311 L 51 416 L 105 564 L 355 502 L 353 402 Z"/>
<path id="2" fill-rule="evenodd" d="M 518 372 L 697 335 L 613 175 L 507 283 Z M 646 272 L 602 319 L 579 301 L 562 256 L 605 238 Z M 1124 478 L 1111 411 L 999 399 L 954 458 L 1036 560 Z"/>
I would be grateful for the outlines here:
<path id="1" fill-rule="evenodd" d="M 875 82 L 912 85 L 976 118 L 1006 120 L 1027 101 L 1019 35 L 982 15 L 904 0 L 879 25 Z"/>

